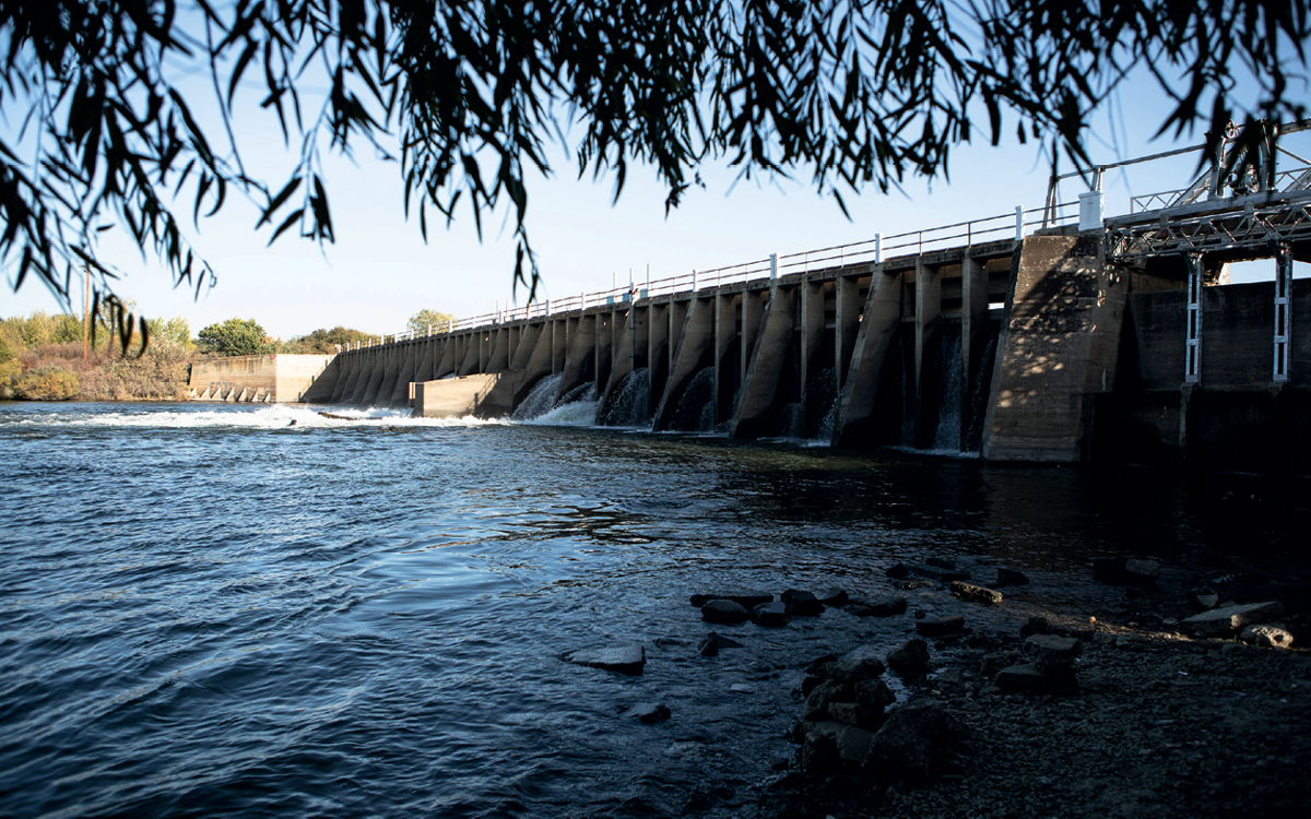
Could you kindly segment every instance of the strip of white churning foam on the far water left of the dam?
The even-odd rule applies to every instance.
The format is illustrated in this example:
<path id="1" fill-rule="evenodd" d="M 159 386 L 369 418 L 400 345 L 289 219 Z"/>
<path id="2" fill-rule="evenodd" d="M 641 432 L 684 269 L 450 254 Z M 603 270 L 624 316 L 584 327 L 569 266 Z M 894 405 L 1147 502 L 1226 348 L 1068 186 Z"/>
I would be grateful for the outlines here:
<path id="1" fill-rule="evenodd" d="M 323 410 L 333 417 L 320 414 L 320 410 L 302 405 L 270 404 L 254 409 L 236 406 L 215 406 L 199 410 L 131 409 L 115 413 L 60 413 L 41 418 L 45 423 L 64 423 L 88 427 L 151 427 L 151 429 L 214 429 L 245 427 L 253 430 L 277 430 L 286 427 L 467 427 L 502 425 L 505 421 L 482 418 L 413 418 L 408 409 L 380 408 L 330 408 Z"/>

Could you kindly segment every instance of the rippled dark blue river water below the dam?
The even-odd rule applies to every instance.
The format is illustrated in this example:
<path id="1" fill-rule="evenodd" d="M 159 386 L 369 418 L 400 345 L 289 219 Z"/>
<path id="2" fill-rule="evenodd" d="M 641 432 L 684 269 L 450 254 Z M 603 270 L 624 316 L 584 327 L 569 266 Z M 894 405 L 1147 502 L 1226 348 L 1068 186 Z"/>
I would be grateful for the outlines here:
<path id="1" fill-rule="evenodd" d="M 340 411 L 0 405 L 0 814 L 741 815 L 805 664 L 912 626 L 703 658 L 694 592 L 886 594 L 936 556 L 1059 595 L 1093 554 L 1304 535 L 1301 489 L 1243 476 Z M 561 659 L 619 645 L 644 675 Z"/>

